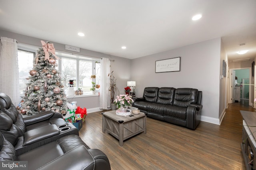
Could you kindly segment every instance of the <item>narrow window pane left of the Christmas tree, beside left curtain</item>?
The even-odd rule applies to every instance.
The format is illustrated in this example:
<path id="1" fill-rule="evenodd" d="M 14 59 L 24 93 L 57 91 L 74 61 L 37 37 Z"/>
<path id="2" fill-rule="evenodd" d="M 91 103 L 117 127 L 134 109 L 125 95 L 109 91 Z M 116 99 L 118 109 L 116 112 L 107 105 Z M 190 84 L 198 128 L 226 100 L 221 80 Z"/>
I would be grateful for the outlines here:
<path id="1" fill-rule="evenodd" d="M 29 72 L 33 68 L 33 60 L 35 53 L 29 51 L 23 51 L 18 49 L 18 66 L 19 66 L 19 84 L 20 84 L 20 96 L 24 96 L 24 90 L 26 90 L 26 84 L 28 83 Z"/>

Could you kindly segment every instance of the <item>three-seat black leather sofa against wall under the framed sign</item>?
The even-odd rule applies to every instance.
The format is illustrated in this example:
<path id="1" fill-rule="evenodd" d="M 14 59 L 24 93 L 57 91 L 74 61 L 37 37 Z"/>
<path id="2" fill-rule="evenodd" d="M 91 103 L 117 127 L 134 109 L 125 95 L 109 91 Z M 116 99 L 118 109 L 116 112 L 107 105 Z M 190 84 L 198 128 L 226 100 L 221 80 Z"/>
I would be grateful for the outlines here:
<path id="1" fill-rule="evenodd" d="M 194 88 L 146 87 L 143 97 L 133 100 L 133 107 L 153 119 L 193 130 L 201 121 L 202 91 Z"/>

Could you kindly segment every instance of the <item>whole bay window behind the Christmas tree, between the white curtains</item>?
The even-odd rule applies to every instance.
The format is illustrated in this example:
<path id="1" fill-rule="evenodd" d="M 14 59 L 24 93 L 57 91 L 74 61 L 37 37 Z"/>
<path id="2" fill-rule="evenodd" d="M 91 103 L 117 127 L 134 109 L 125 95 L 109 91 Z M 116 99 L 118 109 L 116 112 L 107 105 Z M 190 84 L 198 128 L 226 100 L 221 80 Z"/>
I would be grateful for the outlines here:
<path id="1" fill-rule="evenodd" d="M 33 60 L 39 47 L 19 43 L 18 65 L 20 75 L 20 96 L 24 96 L 26 83 L 33 68 Z M 33 51 L 33 52 L 30 52 Z M 100 82 L 100 59 L 82 55 L 73 55 L 62 51 L 55 53 L 60 60 L 56 61 L 56 69 L 60 71 L 64 90 L 68 88 L 69 80 L 74 80 L 74 90 L 82 88 L 84 95 L 92 94 L 91 75 L 96 75 L 95 83 Z M 96 92 L 99 89 L 96 89 Z"/>

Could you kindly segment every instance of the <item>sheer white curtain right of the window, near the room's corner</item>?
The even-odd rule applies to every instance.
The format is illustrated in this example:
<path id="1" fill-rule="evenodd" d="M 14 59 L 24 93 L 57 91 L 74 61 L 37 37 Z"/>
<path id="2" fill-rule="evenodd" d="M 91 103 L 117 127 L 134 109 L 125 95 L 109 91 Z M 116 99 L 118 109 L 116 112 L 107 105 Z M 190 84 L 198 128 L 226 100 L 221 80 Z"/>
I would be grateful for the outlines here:
<path id="1" fill-rule="evenodd" d="M 100 109 L 110 107 L 110 60 L 100 60 Z"/>

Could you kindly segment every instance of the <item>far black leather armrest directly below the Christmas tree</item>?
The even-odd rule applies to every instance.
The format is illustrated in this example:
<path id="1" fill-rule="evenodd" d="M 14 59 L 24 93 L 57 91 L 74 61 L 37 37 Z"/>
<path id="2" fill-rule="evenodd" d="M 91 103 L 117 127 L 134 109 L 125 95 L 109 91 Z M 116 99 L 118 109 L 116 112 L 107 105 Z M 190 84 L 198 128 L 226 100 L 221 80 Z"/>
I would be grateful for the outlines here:
<path id="1" fill-rule="evenodd" d="M 60 113 L 54 113 L 54 111 L 44 111 L 42 113 L 36 114 L 36 115 L 31 115 L 31 116 L 26 116 L 23 117 L 24 123 L 25 125 L 31 125 L 34 123 L 38 123 L 40 121 L 45 121 L 47 119 L 50 118 L 63 118 L 62 115 L 60 115 Z"/>

